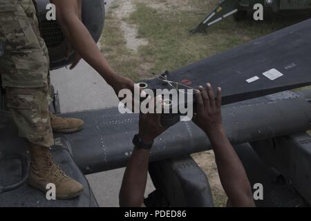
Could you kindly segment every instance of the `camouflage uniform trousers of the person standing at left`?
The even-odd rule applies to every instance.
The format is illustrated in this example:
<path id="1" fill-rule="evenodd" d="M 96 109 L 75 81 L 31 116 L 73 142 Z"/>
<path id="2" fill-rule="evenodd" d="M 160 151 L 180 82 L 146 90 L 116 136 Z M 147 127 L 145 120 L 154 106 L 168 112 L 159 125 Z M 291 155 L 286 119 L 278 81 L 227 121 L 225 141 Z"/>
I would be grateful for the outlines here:
<path id="1" fill-rule="evenodd" d="M 32 0 L 0 0 L 2 86 L 19 135 L 32 144 L 52 146 L 48 105 L 49 59 Z"/>

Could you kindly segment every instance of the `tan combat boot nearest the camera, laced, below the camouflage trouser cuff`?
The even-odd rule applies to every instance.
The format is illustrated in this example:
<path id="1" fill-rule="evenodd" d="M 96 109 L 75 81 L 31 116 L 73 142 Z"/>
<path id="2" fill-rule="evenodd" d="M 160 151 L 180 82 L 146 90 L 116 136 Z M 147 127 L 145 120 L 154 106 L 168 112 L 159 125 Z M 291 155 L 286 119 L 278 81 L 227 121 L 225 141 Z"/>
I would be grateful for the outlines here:
<path id="1" fill-rule="evenodd" d="M 46 185 L 55 184 L 57 200 L 67 200 L 77 197 L 83 191 L 79 182 L 68 177 L 55 164 L 49 148 L 31 144 L 31 162 L 28 175 L 28 184 L 46 193 Z"/>

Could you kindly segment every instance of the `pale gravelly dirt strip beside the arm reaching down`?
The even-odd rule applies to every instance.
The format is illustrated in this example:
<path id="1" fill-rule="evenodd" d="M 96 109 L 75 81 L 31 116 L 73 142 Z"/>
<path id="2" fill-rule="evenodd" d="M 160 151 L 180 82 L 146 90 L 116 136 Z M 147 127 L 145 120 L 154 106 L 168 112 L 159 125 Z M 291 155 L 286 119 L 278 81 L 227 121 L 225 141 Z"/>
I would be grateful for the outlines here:
<path id="1" fill-rule="evenodd" d="M 143 61 L 138 53 L 140 46 L 146 46 L 148 41 L 138 38 L 136 25 L 127 22 L 133 11 L 133 4 L 124 0 L 111 3 L 100 39 L 100 50 L 117 73 L 138 81 L 146 78 L 144 73 L 149 73 L 151 64 Z"/>

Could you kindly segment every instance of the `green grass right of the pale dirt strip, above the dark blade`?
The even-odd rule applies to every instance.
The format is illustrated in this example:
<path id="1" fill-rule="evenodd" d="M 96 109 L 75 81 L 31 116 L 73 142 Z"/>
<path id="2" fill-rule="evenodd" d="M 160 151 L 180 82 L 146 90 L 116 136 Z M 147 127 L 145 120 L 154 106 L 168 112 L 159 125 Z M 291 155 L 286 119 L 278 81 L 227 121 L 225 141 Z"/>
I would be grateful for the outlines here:
<path id="1" fill-rule="evenodd" d="M 229 18 L 210 28 L 207 35 L 191 35 L 189 30 L 204 18 L 211 3 L 189 2 L 194 6 L 191 10 L 155 10 L 146 3 L 136 4 L 137 10 L 129 21 L 138 25 L 139 37 L 149 40 L 149 45 L 142 46 L 139 54 L 144 62 L 153 62 L 151 71 L 185 66 L 296 23 L 296 19 L 285 22 L 280 18 L 259 23 L 249 19 L 237 23 Z"/>

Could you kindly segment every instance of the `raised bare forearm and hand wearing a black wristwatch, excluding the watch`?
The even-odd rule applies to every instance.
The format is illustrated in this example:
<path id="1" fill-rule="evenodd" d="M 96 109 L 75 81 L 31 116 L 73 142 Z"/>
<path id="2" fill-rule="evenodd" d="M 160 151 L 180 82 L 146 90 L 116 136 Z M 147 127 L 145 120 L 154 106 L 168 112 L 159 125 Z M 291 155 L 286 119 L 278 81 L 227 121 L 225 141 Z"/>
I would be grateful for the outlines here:
<path id="1" fill-rule="evenodd" d="M 160 116 L 157 114 L 140 115 L 139 135 L 144 144 L 153 140 L 167 128 L 160 126 Z M 150 150 L 134 148 L 122 180 L 120 189 L 120 206 L 138 207 L 144 203 Z"/>

